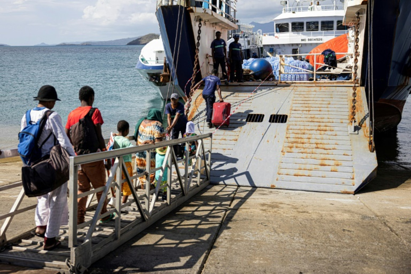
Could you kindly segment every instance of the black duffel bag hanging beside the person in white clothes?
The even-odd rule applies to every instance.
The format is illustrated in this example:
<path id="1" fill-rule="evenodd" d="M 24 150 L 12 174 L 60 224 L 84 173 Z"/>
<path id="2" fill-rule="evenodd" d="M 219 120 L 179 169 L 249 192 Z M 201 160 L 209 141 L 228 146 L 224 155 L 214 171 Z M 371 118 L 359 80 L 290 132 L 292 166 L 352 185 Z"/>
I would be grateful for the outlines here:
<path id="1" fill-rule="evenodd" d="M 28 197 L 47 194 L 69 180 L 69 153 L 55 145 L 49 155 L 45 155 L 30 166 L 21 168 L 24 193 Z"/>

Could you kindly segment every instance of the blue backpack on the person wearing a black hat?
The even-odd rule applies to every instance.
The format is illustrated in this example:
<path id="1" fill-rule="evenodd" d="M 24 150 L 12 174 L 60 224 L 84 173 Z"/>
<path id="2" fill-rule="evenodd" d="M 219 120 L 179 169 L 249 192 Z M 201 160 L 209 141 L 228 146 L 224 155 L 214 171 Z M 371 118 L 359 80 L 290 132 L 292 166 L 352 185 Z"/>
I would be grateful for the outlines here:
<path id="1" fill-rule="evenodd" d="M 39 146 L 39 138 L 42 134 L 44 126 L 46 125 L 47 119 L 53 111 L 46 111 L 43 117 L 38 120 L 36 123 L 30 120 L 30 111 L 26 112 L 26 126 L 25 128 L 18 133 L 18 147 L 17 152 L 21 157 L 21 160 L 25 165 L 30 165 L 35 161 L 38 161 L 42 158 L 42 146 L 48 138 L 50 138 L 50 133 L 46 140 Z"/>

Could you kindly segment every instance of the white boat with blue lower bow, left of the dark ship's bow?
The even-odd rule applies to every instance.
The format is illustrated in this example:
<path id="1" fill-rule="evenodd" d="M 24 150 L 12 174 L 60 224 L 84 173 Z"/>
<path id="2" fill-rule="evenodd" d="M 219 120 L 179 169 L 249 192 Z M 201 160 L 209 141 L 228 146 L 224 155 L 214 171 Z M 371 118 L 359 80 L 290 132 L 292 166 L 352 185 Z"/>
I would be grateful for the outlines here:
<path id="1" fill-rule="evenodd" d="M 169 91 L 169 84 L 160 82 L 160 74 L 163 73 L 165 56 L 161 37 L 154 39 L 141 49 L 136 69 L 157 90 L 163 99 L 170 99 L 171 91 Z M 172 87 L 170 88 L 172 90 Z M 169 93 L 168 97 L 167 92 Z"/>

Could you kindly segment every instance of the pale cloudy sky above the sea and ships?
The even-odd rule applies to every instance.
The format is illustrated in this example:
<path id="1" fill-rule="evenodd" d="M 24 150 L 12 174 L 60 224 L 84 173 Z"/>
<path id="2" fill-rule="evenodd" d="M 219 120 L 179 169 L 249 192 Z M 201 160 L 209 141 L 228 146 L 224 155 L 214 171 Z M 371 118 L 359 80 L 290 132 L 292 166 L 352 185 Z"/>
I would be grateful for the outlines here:
<path id="1" fill-rule="evenodd" d="M 293 2 L 291 0 L 290 2 Z M 0 44 L 105 41 L 159 33 L 156 0 L 0 0 Z M 242 23 L 270 22 L 279 0 L 238 0 Z"/>

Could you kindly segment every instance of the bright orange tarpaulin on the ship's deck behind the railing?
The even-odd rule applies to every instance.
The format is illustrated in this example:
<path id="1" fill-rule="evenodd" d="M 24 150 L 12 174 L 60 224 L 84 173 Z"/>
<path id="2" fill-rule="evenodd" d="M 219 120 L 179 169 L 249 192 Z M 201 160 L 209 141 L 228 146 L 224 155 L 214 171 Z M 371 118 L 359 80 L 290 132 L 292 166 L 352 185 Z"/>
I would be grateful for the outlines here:
<path id="1" fill-rule="evenodd" d="M 322 66 L 322 65 L 319 65 L 318 63 L 324 64 L 324 56 L 321 55 L 321 53 L 325 51 L 327 48 L 332 49 L 336 53 L 347 52 L 348 51 L 348 33 L 332 38 L 331 40 L 326 41 L 325 43 L 316 46 L 309 52 L 309 53 L 320 53 L 320 55 L 317 55 L 316 57 L 317 67 L 315 69 L 318 69 L 319 67 Z M 346 56 L 345 54 L 336 55 L 337 60 L 344 58 L 345 56 Z M 312 64 L 312 66 L 314 67 L 314 55 L 307 55 L 305 59 L 309 60 L 309 63 Z"/>

